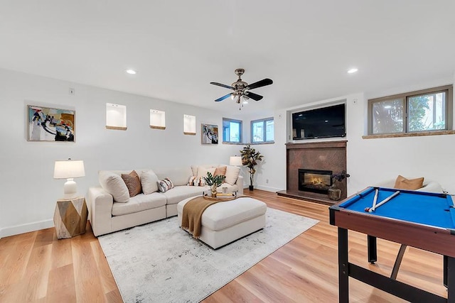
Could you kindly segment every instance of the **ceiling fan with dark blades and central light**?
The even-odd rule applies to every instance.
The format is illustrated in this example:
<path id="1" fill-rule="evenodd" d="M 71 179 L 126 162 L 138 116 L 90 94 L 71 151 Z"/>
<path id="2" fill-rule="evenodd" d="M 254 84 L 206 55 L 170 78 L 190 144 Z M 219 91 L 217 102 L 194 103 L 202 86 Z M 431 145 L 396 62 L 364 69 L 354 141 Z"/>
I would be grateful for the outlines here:
<path id="1" fill-rule="evenodd" d="M 227 89 L 232 89 L 233 91 L 230 92 L 229 94 L 225 94 L 223 97 L 216 99 L 215 102 L 223 101 L 228 97 L 232 97 L 232 99 L 237 99 L 236 100 L 237 104 L 240 104 L 240 99 L 242 98 L 253 99 L 255 101 L 259 101 L 260 99 L 264 98 L 259 94 L 250 92 L 250 89 L 257 89 L 258 87 L 270 85 L 273 83 L 272 79 L 265 78 L 258 82 L 248 84 L 247 82 L 242 81 L 242 79 L 240 78 L 240 76 L 242 76 L 244 72 L 245 70 L 243 70 L 242 68 L 237 68 L 237 70 L 235 70 L 235 75 L 237 75 L 239 79 L 237 79 L 236 82 L 232 83 L 232 85 L 221 84 L 218 82 L 210 82 L 210 84 L 218 85 L 219 87 L 225 87 Z"/>

